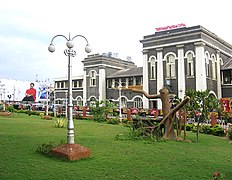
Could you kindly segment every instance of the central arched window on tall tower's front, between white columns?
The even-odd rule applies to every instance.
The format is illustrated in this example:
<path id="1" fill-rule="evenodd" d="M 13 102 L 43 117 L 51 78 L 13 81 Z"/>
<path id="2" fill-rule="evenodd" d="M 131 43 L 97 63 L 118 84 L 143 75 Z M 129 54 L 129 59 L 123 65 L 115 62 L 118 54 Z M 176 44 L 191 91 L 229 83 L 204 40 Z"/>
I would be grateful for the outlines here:
<path id="1" fill-rule="evenodd" d="M 166 61 L 166 78 L 175 78 L 176 69 L 175 69 L 175 56 L 170 54 L 167 56 Z"/>

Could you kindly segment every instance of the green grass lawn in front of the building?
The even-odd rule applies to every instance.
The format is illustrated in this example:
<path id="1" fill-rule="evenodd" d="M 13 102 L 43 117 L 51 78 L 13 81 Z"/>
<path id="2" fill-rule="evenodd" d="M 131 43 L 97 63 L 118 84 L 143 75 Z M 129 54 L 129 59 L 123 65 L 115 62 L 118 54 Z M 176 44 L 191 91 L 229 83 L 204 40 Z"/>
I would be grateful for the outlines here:
<path id="1" fill-rule="evenodd" d="M 198 143 L 115 140 L 126 127 L 75 120 L 75 141 L 91 149 L 69 162 L 36 152 L 43 143 L 66 141 L 54 120 L 14 114 L 0 117 L 0 179 L 210 179 L 220 171 L 232 179 L 232 144 L 200 134 Z M 188 139 L 196 135 L 188 133 Z"/>

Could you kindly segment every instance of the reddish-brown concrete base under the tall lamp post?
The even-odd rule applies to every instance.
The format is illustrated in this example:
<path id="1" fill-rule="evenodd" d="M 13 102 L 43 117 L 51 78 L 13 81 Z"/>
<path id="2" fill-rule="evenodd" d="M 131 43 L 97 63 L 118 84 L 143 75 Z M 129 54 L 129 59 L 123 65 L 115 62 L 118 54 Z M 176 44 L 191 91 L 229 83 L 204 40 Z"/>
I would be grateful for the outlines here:
<path id="1" fill-rule="evenodd" d="M 62 144 L 51 150 L 51 154 L 70 161 L 87 158 L 91 155 L 89 148 L 79 144 Z"/>

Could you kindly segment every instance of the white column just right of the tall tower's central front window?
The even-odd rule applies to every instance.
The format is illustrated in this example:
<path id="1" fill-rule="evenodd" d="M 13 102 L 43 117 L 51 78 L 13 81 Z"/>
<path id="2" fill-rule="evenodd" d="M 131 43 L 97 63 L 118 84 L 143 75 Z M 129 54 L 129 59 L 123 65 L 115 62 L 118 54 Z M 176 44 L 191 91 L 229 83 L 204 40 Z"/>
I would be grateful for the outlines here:
<path id="1" fill-rule="evenodd" d="M 185 69 L 184 69 L 184 45 L 177 46 L 178 50 L 178 97 L 185 96 Z"/>

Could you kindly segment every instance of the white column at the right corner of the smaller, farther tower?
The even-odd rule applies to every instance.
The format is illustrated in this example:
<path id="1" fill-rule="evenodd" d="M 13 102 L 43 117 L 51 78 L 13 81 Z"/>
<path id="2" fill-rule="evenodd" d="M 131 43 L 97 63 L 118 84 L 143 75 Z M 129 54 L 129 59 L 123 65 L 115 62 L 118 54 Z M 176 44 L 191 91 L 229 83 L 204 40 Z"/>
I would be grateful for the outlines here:
<path id="1" fill-rule="evenodd" d="M 99 101 L 106 99 L 106 71 L 99 69 Z"/>

